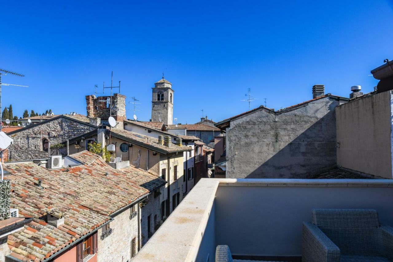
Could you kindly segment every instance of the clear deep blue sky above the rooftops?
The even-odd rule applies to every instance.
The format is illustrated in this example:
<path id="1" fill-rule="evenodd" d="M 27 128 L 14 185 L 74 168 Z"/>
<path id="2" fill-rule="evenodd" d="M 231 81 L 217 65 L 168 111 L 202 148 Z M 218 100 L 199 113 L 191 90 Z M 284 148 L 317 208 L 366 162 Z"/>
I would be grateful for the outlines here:
<path id="1" fill-rule="evenodd" d="M 274 2 L 274 3 L 273 3 Z M 297 2 L 297 3 L 295 3 Z M 391 1 L 7 1 L 2 3 L 3 105 L 14 115 L 86 114 L 84 96 L 121 80 L 149 120 L 151 87 L 174 89 L 174 117 L 201 109 L 222 120 L 248 110 L 248 88 L 275 109 L 312 98 L 314 84 L 349 96 L 378 83 L 370 70 L 393 59 Z M 102 90 L 102 89 L 101 89 Z M 127 104 L 127 117 L 132 118 Z"/>

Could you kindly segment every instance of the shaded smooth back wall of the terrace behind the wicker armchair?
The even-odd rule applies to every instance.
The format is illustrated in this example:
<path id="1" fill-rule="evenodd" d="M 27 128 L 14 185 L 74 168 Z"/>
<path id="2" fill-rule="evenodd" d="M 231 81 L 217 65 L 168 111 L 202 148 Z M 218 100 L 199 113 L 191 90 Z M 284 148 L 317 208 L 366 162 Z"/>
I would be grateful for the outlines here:
<path id="1" fill-rule="evenodd" d="M 386 186 L 219 186 L 216 245 L 229 245 L 234 255 L 300 256 L 312 208 L 374 208 L 393 226 L 392 198 Z"/>

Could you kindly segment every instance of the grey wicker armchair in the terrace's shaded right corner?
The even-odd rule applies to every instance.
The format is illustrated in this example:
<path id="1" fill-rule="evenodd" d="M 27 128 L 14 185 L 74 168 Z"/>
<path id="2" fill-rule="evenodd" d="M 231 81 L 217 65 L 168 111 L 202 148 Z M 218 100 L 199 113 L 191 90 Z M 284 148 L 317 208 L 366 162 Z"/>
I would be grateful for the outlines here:
<path id="1" fill-rule="evenodd" d="M 393 262 L 393 228 L 373 209 L 314 209 L 303 223 L 303 262 Z"/>

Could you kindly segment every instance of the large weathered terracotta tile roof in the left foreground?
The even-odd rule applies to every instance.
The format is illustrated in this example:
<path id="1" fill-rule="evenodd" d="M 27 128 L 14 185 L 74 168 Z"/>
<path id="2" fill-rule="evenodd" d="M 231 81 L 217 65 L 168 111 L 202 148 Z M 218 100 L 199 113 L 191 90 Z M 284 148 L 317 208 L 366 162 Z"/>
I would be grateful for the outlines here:
<path id="1" fill-rule="evenodd" d="M 33 217 L 24 230 L 9 235 L 12 256 L 33 261 L 49 258 L 165 183 L 131 166 L 116 170 L 88 151 L 71 156 L 85 164 L 47 169 L 34 162 L 17 162 L 4 167 L 11 173 L 6 177 L 11 180 L 11 208 L 18 208 L 21 217 Z M 64 225 L 48 225 L 44 221 L 48 212 L 64 216 Z"/>

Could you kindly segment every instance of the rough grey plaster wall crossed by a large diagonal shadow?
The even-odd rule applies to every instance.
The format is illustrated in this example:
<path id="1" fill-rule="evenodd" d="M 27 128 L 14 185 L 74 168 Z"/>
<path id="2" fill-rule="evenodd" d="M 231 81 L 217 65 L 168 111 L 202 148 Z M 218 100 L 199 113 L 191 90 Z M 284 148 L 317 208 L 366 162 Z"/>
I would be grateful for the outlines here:
<path id="1" fill-rule="evenodd" d="M 228 178 L 302 178 L 336 164 L 338 101 L 323 98 L 282 114 L 256 111 L 231 121 Z"/>

